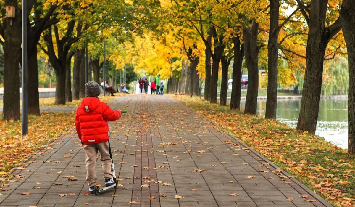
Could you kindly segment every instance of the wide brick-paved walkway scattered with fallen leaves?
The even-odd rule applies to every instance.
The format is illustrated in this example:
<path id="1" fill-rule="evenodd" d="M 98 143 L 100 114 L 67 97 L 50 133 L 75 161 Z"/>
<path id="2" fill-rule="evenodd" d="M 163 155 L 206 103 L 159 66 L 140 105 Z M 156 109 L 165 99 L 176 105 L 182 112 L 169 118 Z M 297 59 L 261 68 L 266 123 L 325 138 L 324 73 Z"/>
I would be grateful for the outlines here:
<path id="1" fill-rule="evenodd" d="M 25 170 L 14 172 L 18 182 L 2 187 L 8 191 L 1 191 L 0 206 L 324 206 L 321 199 L 299 197 L 315 199 L 179 101 L 132 95 L 110 106 L 128 111 L 110 124 L 117 190 L 82 195 L 88 190 L 85 154 L 73 129 L 35 154 Z"/>

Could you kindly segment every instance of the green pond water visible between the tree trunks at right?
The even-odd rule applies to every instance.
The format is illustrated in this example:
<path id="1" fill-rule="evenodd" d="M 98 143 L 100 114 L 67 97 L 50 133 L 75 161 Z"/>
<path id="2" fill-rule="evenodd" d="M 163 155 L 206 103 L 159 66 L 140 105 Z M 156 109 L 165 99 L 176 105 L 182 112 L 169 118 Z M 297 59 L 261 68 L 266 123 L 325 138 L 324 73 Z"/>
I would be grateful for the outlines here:
<path id="1" fill-rule="evenodd" d="M 241 100 L 244 110 L 245 99 Z M 278 100 L 277 120 L 296 128 L 301 99 Z M 266 100 L 258 100 L 257 114 L 265 116 Z M 321 99 L 316 134 L 343 149 L 348 148 L 348 99 Z"/>

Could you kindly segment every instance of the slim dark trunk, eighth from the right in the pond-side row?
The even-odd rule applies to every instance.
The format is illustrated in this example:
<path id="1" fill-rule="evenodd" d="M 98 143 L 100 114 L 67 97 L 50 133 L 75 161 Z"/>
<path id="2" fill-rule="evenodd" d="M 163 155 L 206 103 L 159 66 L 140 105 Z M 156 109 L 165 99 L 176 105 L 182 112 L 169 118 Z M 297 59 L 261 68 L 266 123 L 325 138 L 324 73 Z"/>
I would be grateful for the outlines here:
<path id="1" fill-rule="evenodd" d="M 209 101 L 211 100 L 211 58 L 212 54 L 209 48 L 212 48 L 212 33 L 213 33 L 213 27 L 211 27 L 208 31 L 208 36 L 207 36 L 207 43 L 205 43 L 206 49 L 204 51 L 206 55 L 205 59 L 205 71 L 206 71 L 206 79 L 204 82 L 204 100 Z"/>

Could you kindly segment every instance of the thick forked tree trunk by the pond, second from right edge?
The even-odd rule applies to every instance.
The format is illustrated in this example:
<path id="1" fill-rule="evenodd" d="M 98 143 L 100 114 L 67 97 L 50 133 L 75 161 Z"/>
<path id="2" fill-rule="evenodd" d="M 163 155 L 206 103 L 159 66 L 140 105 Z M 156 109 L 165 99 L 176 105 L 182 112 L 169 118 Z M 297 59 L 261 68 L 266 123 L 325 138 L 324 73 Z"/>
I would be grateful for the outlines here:
<path id="1" fill-rule="evenodd" d="M 305 80 L 297 129 L 316 132 L 321 97 L 323 62 L 329 41 L 340 31 L 337 1 L 297 0 L 308 25 Z"/>

